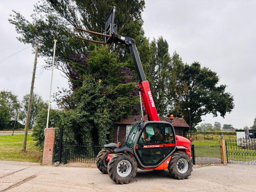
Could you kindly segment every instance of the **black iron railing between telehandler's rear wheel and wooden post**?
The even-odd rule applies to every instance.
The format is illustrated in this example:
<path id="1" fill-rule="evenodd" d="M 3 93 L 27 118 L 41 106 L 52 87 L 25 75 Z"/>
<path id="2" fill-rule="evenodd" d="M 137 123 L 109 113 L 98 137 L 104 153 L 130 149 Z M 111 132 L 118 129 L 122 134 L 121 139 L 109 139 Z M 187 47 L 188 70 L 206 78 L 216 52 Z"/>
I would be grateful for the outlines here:
<path id="1" fill-rule="evenodd" d="M 220 145 L 192 145 L 193 164 L 221 163 Z"/>

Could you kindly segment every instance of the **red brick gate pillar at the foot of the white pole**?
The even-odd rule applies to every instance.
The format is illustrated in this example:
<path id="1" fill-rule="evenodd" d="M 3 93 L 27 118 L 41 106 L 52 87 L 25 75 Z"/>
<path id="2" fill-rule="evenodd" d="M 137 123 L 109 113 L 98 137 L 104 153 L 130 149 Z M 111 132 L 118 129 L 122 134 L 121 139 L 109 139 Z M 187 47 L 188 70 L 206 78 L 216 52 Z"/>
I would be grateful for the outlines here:
<path id="1" fill-rule="evenodd" d="M 52 164 L 52 154 L 53 154 L 54 140 L 55 140 L 55 129 L 54 128 L 45 129 L 44 153 L 43 153 L 43 162 L 42 162 L 42 164 L 47 164 L 47 165 Z"/>

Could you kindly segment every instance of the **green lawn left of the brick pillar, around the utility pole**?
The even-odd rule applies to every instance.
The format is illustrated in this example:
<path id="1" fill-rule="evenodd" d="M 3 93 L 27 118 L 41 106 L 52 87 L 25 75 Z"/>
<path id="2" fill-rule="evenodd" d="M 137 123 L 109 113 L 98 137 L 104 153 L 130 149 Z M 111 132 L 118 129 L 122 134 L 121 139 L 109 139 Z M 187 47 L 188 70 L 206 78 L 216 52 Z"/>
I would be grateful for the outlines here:
<path id="1" fill-rule="evenodd" d="M 36 141 L 28 135 L 26 151 L 22 151 L 24 135 L 0 135 L 0 160 L 42 162 L 43 153 L 37 150 Z"/>

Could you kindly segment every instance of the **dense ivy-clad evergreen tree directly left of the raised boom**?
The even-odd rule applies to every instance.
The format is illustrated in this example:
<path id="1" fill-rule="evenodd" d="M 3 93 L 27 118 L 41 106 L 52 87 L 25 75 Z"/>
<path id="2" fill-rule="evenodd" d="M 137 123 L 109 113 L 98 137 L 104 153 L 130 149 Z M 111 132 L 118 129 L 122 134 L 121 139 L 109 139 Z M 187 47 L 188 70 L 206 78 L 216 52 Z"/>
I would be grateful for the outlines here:
<path id="1" fill-rule="evenodd" d="M 103 47 L 91 52 L 84 68 L 83 84 L 74 90 L 80 132 L 86 145 L 103 145 L 112 140 L 114 122 L 136 114 L 139 92 L 127 63 L 118 63 L 115 54 Z"/>

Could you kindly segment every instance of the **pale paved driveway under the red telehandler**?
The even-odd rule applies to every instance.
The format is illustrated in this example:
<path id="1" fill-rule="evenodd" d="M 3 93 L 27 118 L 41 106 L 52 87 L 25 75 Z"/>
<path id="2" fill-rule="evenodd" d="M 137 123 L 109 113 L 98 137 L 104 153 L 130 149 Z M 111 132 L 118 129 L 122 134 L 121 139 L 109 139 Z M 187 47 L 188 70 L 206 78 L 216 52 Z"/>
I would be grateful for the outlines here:
<path id="1" fill-rule="evenodd" d="M 114 183 L 95 168 L 0 164 L 0 191 L 256 191 L 256 165 L 194 168 L 188 180 L 167 171 L 139 170 L 126 185 Z"/>

